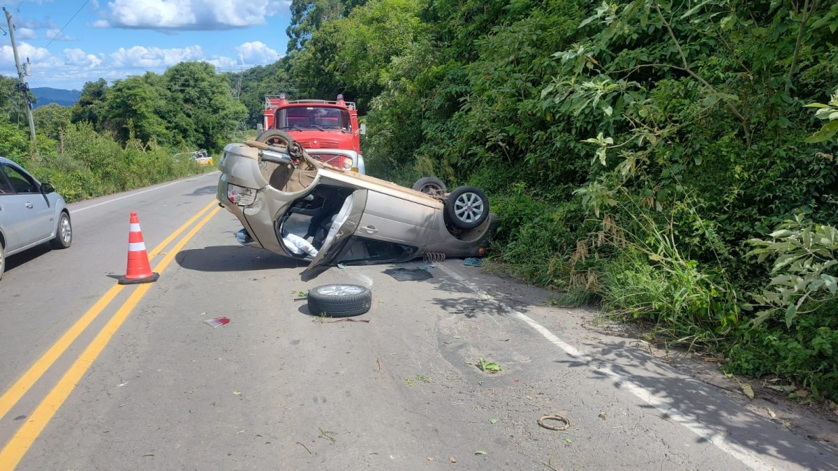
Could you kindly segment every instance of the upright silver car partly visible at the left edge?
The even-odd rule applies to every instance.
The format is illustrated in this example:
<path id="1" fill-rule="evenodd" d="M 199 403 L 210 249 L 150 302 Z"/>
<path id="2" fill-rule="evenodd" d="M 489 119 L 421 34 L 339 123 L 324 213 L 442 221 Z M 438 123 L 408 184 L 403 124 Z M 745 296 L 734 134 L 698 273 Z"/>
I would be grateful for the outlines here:
<path id="1" fill-rule="evenodd" d="M 51 184 L 0 157 L 0 278 L 6 257 L 49 241 L 65 249 L 73 241 L 70 211 Z"/>

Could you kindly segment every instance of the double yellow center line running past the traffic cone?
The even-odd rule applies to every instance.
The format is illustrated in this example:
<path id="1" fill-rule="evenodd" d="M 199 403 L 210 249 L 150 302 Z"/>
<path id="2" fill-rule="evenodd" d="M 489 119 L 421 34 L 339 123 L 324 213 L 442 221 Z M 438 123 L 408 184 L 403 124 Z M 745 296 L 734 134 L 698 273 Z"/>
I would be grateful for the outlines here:
<path id="1" fill-rule="evenodd" d="M 215 206 L 215 209 L 213 207 Z M 184 246 L 189 242 L 192 237 L 209 222 L 212 217 L 218 213 L 220 210 L 219 207 L 216 206 L 215 201 L 207 204 L 204 206 L 204 209 L 200 210 L 198 214 L 192 216 L 187 220 L 184 225 L 178 227 L 178 230 L 175 230 L 171 235 L 166 237 L 163 242 L 153 248 L 153 250 L 148 254 L 149 258 L 153 256 L 159 255 L 163 249 L 168 246 L 173 240 L 175 240 L 178 235 L 182 234 L 184 230 L 187 230 L 190 225 L 192 225 L 195 220 L 198 220 L 202 215 L 204 215 L 204 219 L 200 220 L 198 224 L 194 225 L 194 227 L 189 230 L 189 232 L 184 235 L 184 237 L 175 244 L 171 250 L 169 250 L 166 256 L 163 257 L 156 267 L 154 267 L 155 272 L 163 272 L 163 270 L 168 267 L 168 264 L 174 260 L 174 257 L 178 254 Z M 207 214 L 209 211 L 209 214 Z M 23 458 L 28 451 L 28 449 L 32 446 L 34 441 L 38 438 L 41 432 L 44 431 L 44 427 L 46 427 L 47 423 L 50 419 L 55 415 L 55 412 L 58 411 L 59 407 L 64 403 L 68 396 L 70 396 L 70 392 L 73 391 L 75 386 L 81 380 L 81 377 L 85 375 L 85 372 L 93 365 L 93 362 L 96 360 L 96 357 L 101 354 L 102 349 L 105 349 L 105 345 L 108 341 L 116 334 L 116 331 L 122 326 L 122 323 L 128 318 L 128 315 L 131 313 L 132 309 L 137 306 L 142 296 L 153 286 L 153 284 L 142 284 L 137 287 L 137 289 L 131 293 L 131 296 L 122 303 L 113 317 L 106 323 L 105 327 L 103 327 L 99 334 L 96 334 L 96 338 L 93 339 L 91 344 L 87 346 L 84 352 L 81 353 L 78 359 L 75 360 L 73 365 L 70 366 L 70 370 L 67 370 L 64 376 L 61 377 L 58 384 L 54 386 L 52 391 L 49 391 L 49 394 L 44 398 L 44 401 L 35 408 L 34 412 L 28 417 L 28 420 L 23 423 L 23 425 L 18 429 L 18 432 L 14 434 L 14 436 L 6 443 L 6 446 L 3 447 L 3 451 L 0 451 L 0 469 L 13 469 L 15 466 L 18 465 L 20 460 Z M 102 312 L 106 306 L 116 298 L 116 295 L 122 292 L 125 289 L 125 285 L 115 285 L 111 287 L 98 301 L 96 301 L 87 312 L 76 321 L 70 329 L 67 329 L 64 335 L 62 335 L 52 346 L 44 352 L 44 355 L 41 355 L 38 360 L 34 362 L 34 364 L 29 367 L 29 369 L 23 373 L 23 375 L 18 378 L 14 384 L 8 388 L 6 392 L 3 393 L 3 396 L 0 396 L 0 419 L 2 419 L 6 413 L 20 401 L 21 397 L 26 394 L 29 389 L 34 386 L 35 382 L 37 382 L 42 375 L 52 366 L 56 360 L 59 359 L 61 355 L 65 353 L 65 351 L 70 348 L 70 344 L 72 344 L 75 339 L 78 339 L 79 335 L 87 329 L 87 327 L 93 322 L 94 319 Z"/>

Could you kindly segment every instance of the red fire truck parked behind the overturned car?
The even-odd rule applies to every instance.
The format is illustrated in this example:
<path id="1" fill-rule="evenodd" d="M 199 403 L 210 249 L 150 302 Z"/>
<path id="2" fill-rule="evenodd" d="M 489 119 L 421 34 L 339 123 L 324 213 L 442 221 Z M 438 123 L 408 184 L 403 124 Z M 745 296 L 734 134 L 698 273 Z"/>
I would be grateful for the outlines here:
<path id="1" fill-rule="evenodd" d="M 265 97 L 263 132 L 285 131 L 305 148 L 309 155 L 339 168 L 366 173 L 361 154 L 358 111 L 351 101 L 339 95 L 337 101 L 294 100 L 285 95 Z"/>

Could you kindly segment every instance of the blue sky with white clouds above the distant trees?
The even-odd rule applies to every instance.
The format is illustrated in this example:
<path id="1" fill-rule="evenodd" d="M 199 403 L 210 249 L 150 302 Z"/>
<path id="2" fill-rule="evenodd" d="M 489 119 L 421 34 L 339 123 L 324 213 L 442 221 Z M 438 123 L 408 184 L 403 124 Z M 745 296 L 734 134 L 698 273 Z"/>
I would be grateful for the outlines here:
<path id="1" fill-rule="evenodd" d="M 20 59 L 31 63 L 29 86 L 70 90 L 184 60 L 217 71 L 272 64 L 285 54 L 291 15 L 290 0 L 0 1 L 12 13 Z M 0 18 L 0 74 L 17 76 Z"/>

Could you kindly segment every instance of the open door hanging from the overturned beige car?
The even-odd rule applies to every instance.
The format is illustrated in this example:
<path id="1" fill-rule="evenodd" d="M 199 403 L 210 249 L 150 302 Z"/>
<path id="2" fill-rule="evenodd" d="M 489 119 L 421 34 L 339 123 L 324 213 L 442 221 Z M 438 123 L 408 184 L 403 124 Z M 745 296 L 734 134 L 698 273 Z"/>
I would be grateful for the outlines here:
<path id="1" fill-rule="evenodd" d="M 366 198 L 367 190 L 359 189 L 344 200 L 344 205 L 340 208 L 332 227 L 328 230 L 328 235 L 323 240 L 323 246 L 320 246 L 317 256 L 308 264 L 308 268 L 300 274 L 304 282 L 317 277 L 334 264 L 346 242 L 349 241 L 349 237 L 355 233 L 355 230 L 358 230 L 361 216 L 364 215 Z"/>

